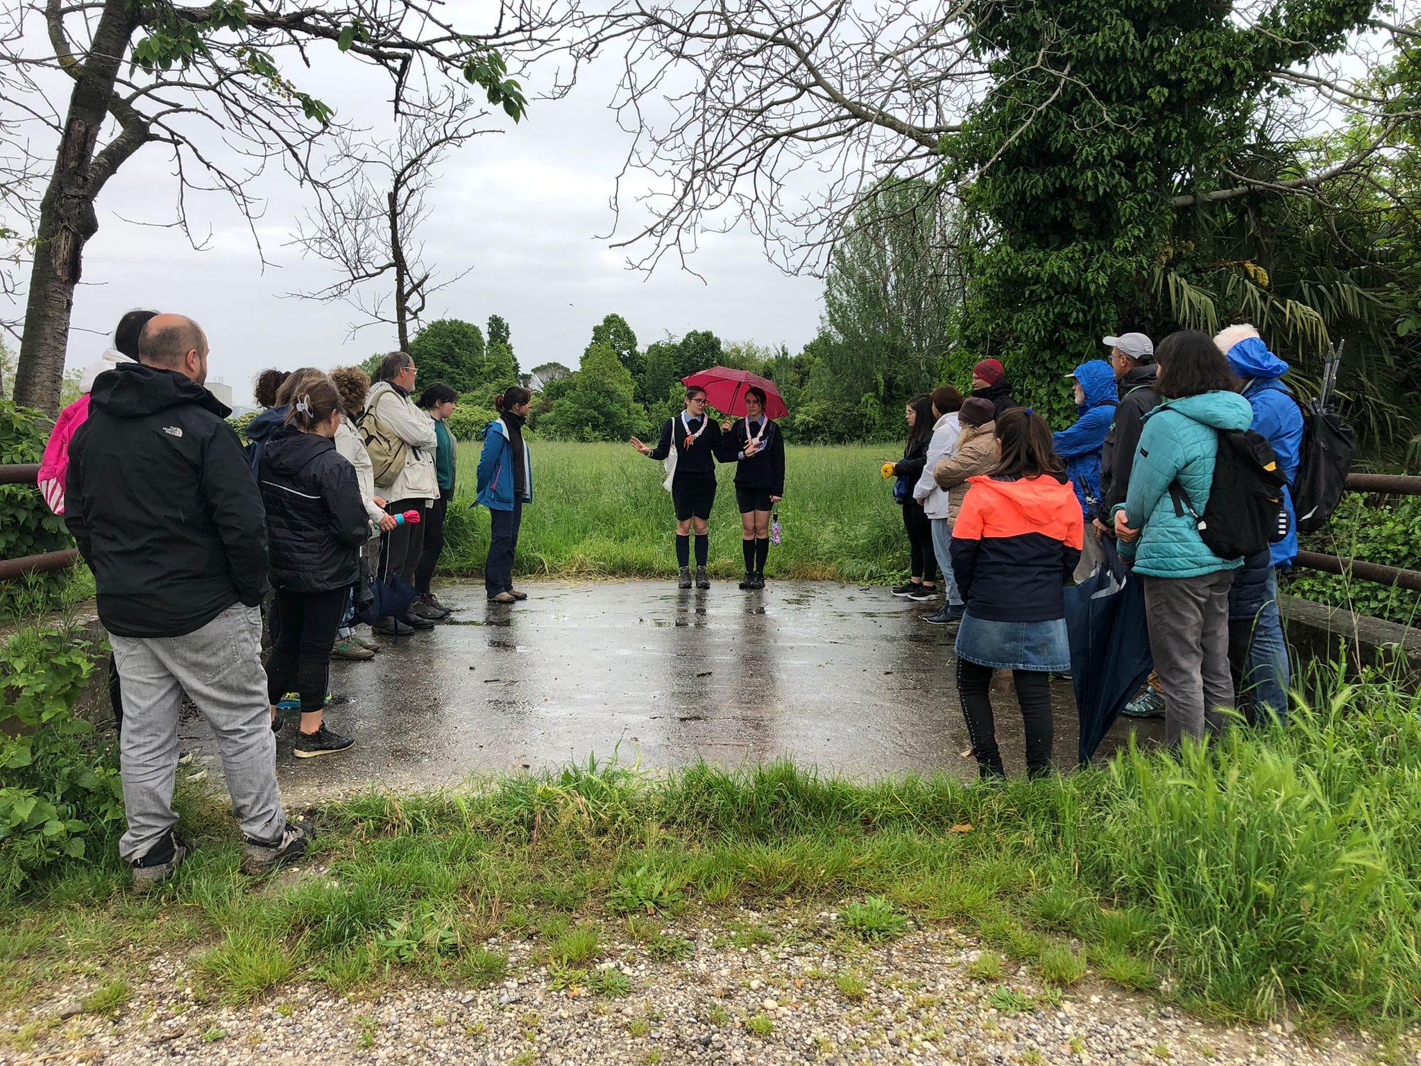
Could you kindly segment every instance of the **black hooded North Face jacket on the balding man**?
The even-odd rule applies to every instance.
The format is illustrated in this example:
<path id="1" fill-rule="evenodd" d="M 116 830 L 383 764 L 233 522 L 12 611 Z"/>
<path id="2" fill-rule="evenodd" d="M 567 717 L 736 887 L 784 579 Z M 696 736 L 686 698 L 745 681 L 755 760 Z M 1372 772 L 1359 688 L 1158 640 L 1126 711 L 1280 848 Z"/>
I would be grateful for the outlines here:
<path id="1" fill-rule="evenodd" d="M 232 414 L 182 374 L 99 374 L 70 442 L 64 520 L 119 637 L 183 637 L 266 591 L 266 516 Z"/>

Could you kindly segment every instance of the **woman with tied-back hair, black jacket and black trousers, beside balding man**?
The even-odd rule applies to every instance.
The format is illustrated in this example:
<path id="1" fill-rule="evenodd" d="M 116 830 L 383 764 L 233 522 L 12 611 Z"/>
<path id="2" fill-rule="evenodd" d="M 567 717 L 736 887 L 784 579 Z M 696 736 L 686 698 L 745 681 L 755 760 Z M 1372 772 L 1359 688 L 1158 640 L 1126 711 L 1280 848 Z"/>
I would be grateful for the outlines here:
<path id="1" fill-rule="evenodd" d="M 371 516 L 355 468 L 335 451 L 340 392 L 324 374 L 291 378 L 297 385 L 283 387 L 286 422 L 267 438 L 259 480 L 279 618 L 266 674 L 274 731 L 281 726 L 281 696 L 300 694 L 294 750 L 296 758 L 310 759 L 352 743 L 325 725 L 324 708 L 335 630 L 360 573 L 358 551 L 371 534 Z"/>

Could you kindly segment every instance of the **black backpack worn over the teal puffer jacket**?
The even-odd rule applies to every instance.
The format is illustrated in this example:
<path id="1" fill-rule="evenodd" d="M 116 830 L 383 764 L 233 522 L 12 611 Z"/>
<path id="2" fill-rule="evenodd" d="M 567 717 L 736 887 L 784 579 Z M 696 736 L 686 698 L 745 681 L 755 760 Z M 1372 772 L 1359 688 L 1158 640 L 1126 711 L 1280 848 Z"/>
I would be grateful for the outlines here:
<path id="1" fill-rule="evenodd" d="M 1252 429 L 1218 429 L 1209 503 L 1199 515 L 1178 480 L 1174 513 L 1194 517 L 1199 539 L 1219 559 L 1248 559 L 1287 536 L 1283 470 L 1268 439 Z"/>

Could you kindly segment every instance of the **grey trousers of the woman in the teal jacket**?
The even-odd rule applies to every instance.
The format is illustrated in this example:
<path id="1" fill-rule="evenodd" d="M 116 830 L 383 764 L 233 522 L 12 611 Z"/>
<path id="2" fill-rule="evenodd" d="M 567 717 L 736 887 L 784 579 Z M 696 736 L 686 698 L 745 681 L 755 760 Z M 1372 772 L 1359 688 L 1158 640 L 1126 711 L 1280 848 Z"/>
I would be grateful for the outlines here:
<path id="1" fill-rule="evenodd" d="M 1232 570 L 1201 577 L 1144 577 L 1150 651 L 1164 688 L 1164 738 L 1171 748 L 1188 733 L 1218 732 L 1233 706 L 1229 674 Z"/>

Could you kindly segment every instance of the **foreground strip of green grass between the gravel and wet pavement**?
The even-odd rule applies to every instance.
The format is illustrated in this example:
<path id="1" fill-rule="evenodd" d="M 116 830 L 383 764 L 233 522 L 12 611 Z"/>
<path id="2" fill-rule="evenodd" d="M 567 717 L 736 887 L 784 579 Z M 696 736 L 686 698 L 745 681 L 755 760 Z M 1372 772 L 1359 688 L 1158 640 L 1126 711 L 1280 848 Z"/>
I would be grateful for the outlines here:
<path id="1" fill-rule="evenodd" d="M 257 888 L 223 803 L 189 792 L 202 847 L 156 895 L 125 894 L 107 849 L 9 901 L 0 1009 L 85 975 L 104 982 L 92 1009 L 118 1009 L 155 954 L 189 958 L 213 1002 L 297 979 L 480 985 L 509 967 L 493 932 L 534 938 L 550 979 L 590 981 L 612 930 L 681 957 L 682 915 L 733 927 L 743 904 L 803 915 L 834 949 L 969 928 L 1057 995 L 1094 974 L 1226 1019 L 1400 1032 L 1421 1013 L 1421 699 L 1327 672 L 1303 691 L 1286 729 L 1003 786 L 594 763 L 369 793 L 320 813 L 321 876 Z"/>

